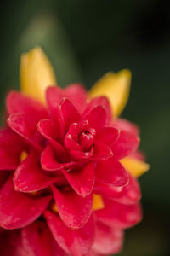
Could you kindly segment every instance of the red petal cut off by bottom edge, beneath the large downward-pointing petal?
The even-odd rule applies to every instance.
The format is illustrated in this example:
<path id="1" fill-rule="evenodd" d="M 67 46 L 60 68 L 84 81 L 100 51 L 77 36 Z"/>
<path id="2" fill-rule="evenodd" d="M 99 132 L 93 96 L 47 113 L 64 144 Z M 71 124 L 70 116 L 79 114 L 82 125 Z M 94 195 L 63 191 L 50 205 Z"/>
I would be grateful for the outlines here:
<path id="1" fill-rule="evenodd" d="M 68 229 L 58 215 L 46 211 L 45 218 L 48 222 L 55 240 L 69 255 L 84 256 L 94 241 L 94 219 L 89 218 L 88 223 L 79 230 Z"/>

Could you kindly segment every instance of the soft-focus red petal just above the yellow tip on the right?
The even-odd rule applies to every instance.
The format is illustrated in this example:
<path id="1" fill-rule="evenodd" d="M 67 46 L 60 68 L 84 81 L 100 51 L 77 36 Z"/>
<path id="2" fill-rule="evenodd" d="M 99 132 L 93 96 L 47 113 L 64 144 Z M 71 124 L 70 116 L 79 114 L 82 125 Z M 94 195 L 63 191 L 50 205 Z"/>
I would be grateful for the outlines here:
<path id="1" fill-rule="evenodd" d="M 127 131 L 121 131 L 120 137 L 118 138 L 116 143 L 111 146 L 111 149 L 116 159 L 122 159 L 128 154 L 133 154 L 138 146 L 139 137 Z"/>

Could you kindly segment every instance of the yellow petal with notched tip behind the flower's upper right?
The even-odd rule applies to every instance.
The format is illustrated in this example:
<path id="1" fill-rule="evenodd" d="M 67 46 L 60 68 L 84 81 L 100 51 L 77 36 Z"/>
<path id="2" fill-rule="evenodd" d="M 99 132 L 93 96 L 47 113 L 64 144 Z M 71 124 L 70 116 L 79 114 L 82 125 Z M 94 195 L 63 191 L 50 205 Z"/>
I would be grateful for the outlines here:
<path id="1" fill-rule="evenodd" d="M 106 96 L 111 102 L 114 117 L 125 108 L 130 92 L 131 73 L 123 69 L 118 73 L 106 73 L 89 91 L 90 97 Z"/>

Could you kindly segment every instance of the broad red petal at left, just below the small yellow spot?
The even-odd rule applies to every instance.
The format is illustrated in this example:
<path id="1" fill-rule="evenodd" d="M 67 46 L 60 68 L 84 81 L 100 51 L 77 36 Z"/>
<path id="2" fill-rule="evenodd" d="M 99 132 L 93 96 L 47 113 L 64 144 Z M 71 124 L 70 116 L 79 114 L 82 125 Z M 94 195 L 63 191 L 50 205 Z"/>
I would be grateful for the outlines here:
<path id="1" fill-rule="evenodd" d="M 31 153 L 14 172 L 14 189 L 20 192 L 38 191 L 58 180 L 58 177 L 50 177 L 46 173 L 41 169 L 37 154 Z"/>

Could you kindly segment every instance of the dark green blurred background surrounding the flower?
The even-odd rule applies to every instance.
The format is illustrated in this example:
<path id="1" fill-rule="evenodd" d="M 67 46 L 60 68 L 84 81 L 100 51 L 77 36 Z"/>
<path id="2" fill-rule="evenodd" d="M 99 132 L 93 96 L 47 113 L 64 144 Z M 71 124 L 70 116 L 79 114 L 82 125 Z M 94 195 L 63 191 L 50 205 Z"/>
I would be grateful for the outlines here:
<path id="1" fill-rule="evenodd" d="M 129 68 L 123 117 L 139 124 L 150 172 L 139 178 L 144 220 L 127 230 L 122 256 L 170 255 L 170 8 L 166 0 L 5 0 L 0 3 L 0 111 L 19 89 L 20 54 L 41 45 L 60 86 L 90 88 Z"/>

